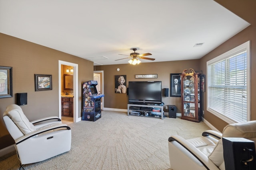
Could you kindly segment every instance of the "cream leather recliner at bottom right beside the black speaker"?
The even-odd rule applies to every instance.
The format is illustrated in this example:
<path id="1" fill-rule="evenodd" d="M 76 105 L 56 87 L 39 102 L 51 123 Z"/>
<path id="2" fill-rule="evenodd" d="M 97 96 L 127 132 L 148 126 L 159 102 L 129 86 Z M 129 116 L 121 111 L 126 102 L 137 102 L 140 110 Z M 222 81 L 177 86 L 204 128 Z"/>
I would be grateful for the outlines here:
<path id="1" fill-rule="evenodd" d="M 222 137 L 242 137 L 256 144 L 256 121 L 227 125 L 222 133 L 208 130 L 202 137 L 168 139 L 170 165 L 173 170 L 225 170 Z"/>

